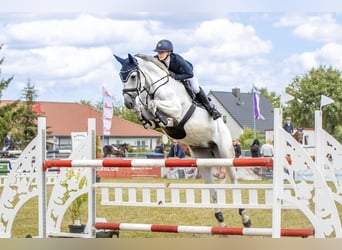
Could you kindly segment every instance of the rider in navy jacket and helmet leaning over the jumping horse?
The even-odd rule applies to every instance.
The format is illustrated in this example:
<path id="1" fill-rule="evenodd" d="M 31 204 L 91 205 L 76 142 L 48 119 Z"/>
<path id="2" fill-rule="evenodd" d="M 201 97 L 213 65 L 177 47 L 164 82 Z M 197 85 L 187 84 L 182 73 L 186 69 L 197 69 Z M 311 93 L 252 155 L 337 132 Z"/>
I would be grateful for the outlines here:
<path id="1" fill-rule="evenodd" d="M 204 93 L 203 89 L 199 86 L 198 79 L 194 74 L 193 66 L 190 62 L 186 61 L 183 57 L 173 52 L 172 42 L 166 39 L 160 40 L 154 49 L 158 54 L 155 56 L 163 62 L 170 70 L 170 75 L 175 80 L 185 80 L 190 82 L 191 88 L 194 91 L 196 98 L 203 104 L 209 114 L 214 120 L 221 117 L 221 113 L 215 109 Z"/>

